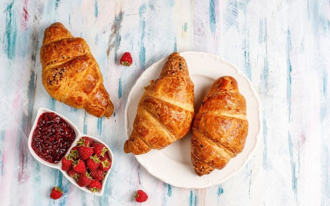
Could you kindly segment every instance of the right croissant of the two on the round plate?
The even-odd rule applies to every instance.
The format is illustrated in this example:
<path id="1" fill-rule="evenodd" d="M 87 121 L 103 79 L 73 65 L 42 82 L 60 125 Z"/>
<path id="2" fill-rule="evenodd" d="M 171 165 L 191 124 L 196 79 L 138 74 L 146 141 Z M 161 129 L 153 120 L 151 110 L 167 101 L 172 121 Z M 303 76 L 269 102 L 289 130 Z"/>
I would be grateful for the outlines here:
<path id="1" fill-rule="evenodd" d="M 245 98 L 236 79 L 215 80 L 204 98 L 192 126 L 191 162 L 202 176 L 222 169 L 242 152 L 248 135 Z"/>

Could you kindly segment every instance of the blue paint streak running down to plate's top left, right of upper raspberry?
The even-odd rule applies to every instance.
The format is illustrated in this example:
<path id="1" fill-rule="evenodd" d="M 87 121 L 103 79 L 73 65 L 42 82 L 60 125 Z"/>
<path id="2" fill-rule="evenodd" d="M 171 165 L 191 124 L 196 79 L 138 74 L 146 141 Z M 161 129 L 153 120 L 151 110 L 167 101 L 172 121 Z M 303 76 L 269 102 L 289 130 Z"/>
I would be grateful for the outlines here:
<path id="1" fill-rule="evenodd" d="M 146 64 L 146 48 L 144 46 L 144 38 L 146 36 L 146 21 L 145 18 L 142 16 L 142 14 L 145 12 L 146 12 L 146 4 L 142 4 L 139 8 L 140 31 L 141 31 L 139 61 L 140 61 L 140 69 L 143 71 L 145 70 L 145 64 Z"/>

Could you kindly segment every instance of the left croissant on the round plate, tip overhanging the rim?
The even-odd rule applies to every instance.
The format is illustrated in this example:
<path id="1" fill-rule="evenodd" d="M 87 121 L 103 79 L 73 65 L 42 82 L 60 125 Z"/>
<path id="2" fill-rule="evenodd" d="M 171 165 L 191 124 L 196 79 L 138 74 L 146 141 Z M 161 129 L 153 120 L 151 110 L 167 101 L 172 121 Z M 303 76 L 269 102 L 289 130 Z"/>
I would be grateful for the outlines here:
<path id="1" fill-rule="evenodd" d="M 193 116 L 194 84 L 185 59 L 175 52 L 142 95 L 124 152 L 141 155 L 163 149 L 188 133 Z"/>

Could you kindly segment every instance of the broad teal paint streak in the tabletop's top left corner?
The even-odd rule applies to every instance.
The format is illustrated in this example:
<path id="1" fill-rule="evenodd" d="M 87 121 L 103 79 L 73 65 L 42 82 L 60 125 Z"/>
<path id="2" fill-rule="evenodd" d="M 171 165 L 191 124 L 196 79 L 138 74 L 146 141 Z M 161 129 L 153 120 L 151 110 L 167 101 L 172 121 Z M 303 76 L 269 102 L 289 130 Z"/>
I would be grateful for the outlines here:
<path id="1" fill-rule="evenodd" d="M 17 28 L 13 20 L 14 1 L 7 6 L 6 9 L 6 33 L 5 33 L 5 53 L 7 58 L 13 60 L 15 57 L 15 46 L 16 46 L 16 36 Z"/>

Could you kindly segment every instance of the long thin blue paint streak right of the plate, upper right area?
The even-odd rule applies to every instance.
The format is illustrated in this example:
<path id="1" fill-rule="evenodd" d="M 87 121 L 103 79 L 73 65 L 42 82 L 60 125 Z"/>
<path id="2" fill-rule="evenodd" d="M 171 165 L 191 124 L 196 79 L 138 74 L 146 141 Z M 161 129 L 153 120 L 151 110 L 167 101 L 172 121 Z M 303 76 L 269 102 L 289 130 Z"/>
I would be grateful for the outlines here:
<path id="1" fill-rule="evenodd" d="M 291 73 L 292 73 L 292 66 L 290 60 L 290 53 L 291 53 L 291 34 L 290 30 L 287 31 L 287 56 L 286 56 L 286 63 L 288 67 L 287 71 L 287 83 L 286 83 L 286 101 L 288 104 L 288 114 L 289 114 L 289 122 L 291 121 Z"/>

